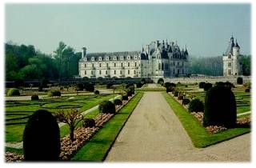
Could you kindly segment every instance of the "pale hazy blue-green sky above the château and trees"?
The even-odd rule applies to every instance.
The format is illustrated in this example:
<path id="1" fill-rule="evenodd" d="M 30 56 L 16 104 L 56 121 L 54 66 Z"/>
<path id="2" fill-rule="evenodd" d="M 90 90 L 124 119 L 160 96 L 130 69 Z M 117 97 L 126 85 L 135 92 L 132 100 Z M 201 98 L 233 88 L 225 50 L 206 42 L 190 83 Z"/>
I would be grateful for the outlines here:
<path id="1" fill-rule="evenodd" d="M 63 41 L 88 52 L 141 50 L 156 39 L 217 56 L 230 36 L 250 54 L 250 4 L 7 4 L 6 42 L 52 53 Z"/>

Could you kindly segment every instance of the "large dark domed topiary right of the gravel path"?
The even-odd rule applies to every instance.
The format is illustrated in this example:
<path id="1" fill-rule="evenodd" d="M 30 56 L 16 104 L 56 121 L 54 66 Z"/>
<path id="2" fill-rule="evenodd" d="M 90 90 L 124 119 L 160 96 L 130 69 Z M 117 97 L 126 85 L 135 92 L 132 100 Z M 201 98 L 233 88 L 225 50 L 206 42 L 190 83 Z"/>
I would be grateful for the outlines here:
<path id="1" fill-rule="evenodd" d="M 234 94 L 226 86 L 214 86 L 206 93 L 203 126 L 236 125 L 237 108 Z"/>

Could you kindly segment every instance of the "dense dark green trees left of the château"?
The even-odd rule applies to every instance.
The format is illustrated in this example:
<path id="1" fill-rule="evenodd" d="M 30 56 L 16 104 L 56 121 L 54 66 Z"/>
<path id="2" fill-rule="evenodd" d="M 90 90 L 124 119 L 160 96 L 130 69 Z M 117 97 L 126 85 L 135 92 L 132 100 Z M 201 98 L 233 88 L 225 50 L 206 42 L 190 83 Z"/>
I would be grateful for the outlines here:
<path id="1" fill-rule="evenodd" d="M 72 78 L 78 75 L 78 61 L 81 52 L 59 42 L 54 54 L 45 54 L 35 50 L 32 45 L 17 45 L 12 42 L 5 44 L 6 81 Z"/>

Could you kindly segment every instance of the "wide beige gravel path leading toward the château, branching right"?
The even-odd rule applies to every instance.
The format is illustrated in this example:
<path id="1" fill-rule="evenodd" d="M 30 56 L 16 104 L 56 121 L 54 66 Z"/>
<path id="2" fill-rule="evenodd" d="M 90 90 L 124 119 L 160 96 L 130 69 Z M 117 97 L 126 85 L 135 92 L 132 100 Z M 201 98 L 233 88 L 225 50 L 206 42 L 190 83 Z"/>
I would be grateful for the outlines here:
<path id="1" fill-rule="evenodd" d="M 159 92 L 146 92 L 106 162 L 249 162 L 250 134 L 195 148 Z"/>

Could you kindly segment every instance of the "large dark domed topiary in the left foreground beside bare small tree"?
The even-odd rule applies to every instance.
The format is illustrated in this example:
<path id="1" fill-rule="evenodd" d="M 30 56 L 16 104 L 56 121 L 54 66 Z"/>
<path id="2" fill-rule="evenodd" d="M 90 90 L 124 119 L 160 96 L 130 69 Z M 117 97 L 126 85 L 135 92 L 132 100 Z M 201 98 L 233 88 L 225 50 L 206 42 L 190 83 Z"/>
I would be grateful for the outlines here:
<path id="1" fill-rule="evenodd" d="M 50 112 L 37 110 L 26 123 L 23 154 L 26 161 L 57 161 L 60 154 L 58 122 Z"/>

